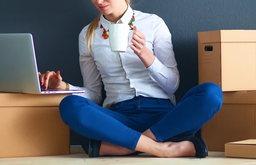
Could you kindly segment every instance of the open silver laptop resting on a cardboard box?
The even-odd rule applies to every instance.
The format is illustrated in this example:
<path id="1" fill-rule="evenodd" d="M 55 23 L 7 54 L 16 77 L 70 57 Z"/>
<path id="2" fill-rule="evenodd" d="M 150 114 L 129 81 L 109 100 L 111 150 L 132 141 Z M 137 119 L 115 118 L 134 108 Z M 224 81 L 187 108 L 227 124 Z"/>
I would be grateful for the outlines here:
<path id="1" fill-rule="evenodd" d="M 85 90 L 41 89 L 32 34 L 0 34 L 0 92 L 52 94 Z"/>

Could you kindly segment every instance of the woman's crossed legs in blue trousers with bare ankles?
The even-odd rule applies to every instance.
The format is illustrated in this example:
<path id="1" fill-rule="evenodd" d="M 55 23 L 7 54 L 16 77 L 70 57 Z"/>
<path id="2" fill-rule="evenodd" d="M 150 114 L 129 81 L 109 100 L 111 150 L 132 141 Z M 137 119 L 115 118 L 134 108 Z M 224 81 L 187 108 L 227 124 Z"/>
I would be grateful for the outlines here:
<path id="1" fill-rule="evenodd" d="M 62 120 L 85 137 L 101 140 L 100 154 L 141 151 L 157 157 L 195 155 L 189 141 L 159 143 L 177 134 L 195 133 L 209 121 L 222 105 L 222 91 L 213 83 L 190 89 L 183 99 L 162 119 L 143 133 L 136 131 L 137 123 L 125 115 L 97 106 L 86 98 L 67 96 L 61 101 Z M 112 153 L 111 153 L 112 152 Z"/>

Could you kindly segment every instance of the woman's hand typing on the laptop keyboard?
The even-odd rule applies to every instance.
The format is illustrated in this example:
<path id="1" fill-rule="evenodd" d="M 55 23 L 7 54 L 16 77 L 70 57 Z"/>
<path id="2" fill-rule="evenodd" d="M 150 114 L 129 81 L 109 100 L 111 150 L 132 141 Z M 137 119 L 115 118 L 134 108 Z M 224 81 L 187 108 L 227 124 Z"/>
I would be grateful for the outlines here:
<path id="1" fill-rule="evenodd" d="M 38 72 L 39 81 L 41 85 L 44 85 L 44 89 L 52 88 L 52 89 L 65 89 L 66 83 L 62 81 L 62 77 L 60 75 L 60 71 L 55 73 L 54 71 L 47 71 L 44 74 Z"/>

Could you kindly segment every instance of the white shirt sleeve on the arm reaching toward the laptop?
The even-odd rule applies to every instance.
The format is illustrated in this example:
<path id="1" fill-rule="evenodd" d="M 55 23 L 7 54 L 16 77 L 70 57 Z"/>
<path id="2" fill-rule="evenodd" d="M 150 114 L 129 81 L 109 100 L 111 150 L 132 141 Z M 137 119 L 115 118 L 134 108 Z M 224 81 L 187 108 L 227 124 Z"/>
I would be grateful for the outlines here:
<path id="1" fill-rule="evenodd" d="M 102 101 L 101 76 L 93 60 L 93 57 L 88 53 L 85 34 L 86 31 L 81 31 L 79 34 L 79 63 L 84 86 L 76 87 L 71 84 L 69 85 L 70 89 L 85 90 L 84 93 L 74 93 L 73 95 L 80 95 L 84 98 L 88 98 L 96 104 L 99 104 Z"/>

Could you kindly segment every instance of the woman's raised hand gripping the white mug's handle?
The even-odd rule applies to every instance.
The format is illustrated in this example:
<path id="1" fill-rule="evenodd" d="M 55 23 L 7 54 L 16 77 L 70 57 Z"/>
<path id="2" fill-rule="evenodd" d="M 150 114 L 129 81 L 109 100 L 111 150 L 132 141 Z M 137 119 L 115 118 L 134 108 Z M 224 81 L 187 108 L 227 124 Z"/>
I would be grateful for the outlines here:
<path id="1" fill-rule="evenodd" d="M 131 45 L 131 49 L 141 59 L 145 67 L 148 68 L 154 62 L 155 56 L 146 47 L 146 37 L 137 29 L 136 26 L 134 27 L 131 43 L 133 43 L 133 45 Z"/>

